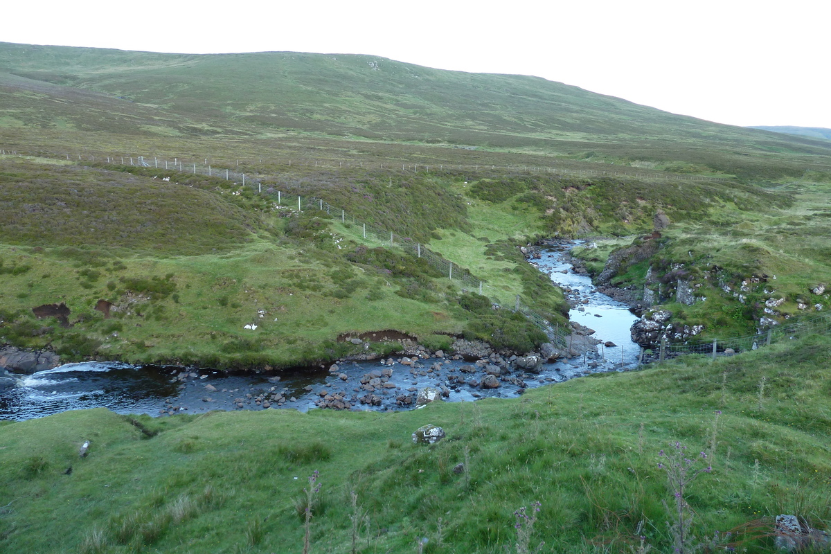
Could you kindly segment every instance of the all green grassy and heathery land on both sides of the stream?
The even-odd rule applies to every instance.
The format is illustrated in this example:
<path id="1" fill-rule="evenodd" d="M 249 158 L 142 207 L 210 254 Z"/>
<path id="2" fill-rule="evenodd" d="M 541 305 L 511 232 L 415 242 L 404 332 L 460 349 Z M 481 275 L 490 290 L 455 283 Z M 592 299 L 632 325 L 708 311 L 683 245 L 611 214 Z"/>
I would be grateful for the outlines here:
<path id="1" fill-rule="evenodd" d="M 519 295 L 566 324 L 563 292 L 519 250 L 552 237 L 592 238 L 575 252 L 589 270 L 651 297 L 672 331 L 701 327 L 684 341 L 831 309 L 831 142 L 534 77 L 0 43 L 0 143 L 0 341 L 64 360 L 281 368 L 353 355 L 339 336 L 380 330 L 431 350 L 499 330 L 495 347 L 533 351 L 538 328 L 490 306 Z M 139 156 L 153 166 L 121 163 Z M 332 213 L 189 164 L 424 243 L 479 278 L 487 301 Z M 656 213 L 669 225 L 653 233 Z M 60 302 L 68 326 L 32 312 Z M 778 513 L 819 529 L 831 518 L 828 347 L 799 336 L 395 414 L 96 409 L 6 423 L 0 545 L 768 552 Z M 448 438 L 411 444 L 425 423 Z M 682 492 L 667 479 L 682 468 L 659 455 L 676 441 L 697 456 L 687 476 L 711 468 Z"/>

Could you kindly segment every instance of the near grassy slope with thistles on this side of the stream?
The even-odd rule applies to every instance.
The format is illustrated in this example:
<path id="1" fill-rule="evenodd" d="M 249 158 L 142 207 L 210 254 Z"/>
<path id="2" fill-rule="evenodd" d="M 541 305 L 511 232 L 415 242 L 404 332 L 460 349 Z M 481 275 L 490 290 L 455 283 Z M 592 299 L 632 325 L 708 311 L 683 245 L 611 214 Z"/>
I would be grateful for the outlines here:
<path id="1" fill-rule="evenodd" d="M 730 546 L 770 552 L 772 516 L 795 513 L 820 528 L 831 518 L 829 346 L 828 337 L 809 336 L 715 362 L 688 356 L 571 380 L 515 400 L 394 414 L 269 409 L 131 420 L 95 409 L 6 424 L 0 545 L 299 551 L 302 488 L 317 470 L 314 552 L 351 552 L 351 492 L 366 514 L 357 552 L 413 552 L 417 537 L 430 537 L 425 552 L 503 552 L 515 541 L 514 510 L 534 501 L 542 511 L 532 546 L 629 552 L 644 536 L 668 552 L 673 516 L 662 503 L 673 504 L 656 463 L 679 440 L 691 458 L 709 454 L 695 468 L 712 465 L 685 491 L 691 535 L 703 542 L 731 531 Z M 426 423 L 447 439 L 411 444 Z M 86 439 L 91 450 L 81 459 Z M 452 471 L 457 463 L 466 473 Z"/>

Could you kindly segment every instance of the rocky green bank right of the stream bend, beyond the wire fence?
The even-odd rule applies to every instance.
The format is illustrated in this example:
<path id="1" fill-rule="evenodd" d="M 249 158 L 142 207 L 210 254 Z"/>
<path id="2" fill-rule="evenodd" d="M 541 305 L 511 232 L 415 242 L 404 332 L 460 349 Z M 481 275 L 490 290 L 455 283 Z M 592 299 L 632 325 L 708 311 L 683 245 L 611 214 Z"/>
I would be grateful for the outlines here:
<path id="1" fill-rule="evenodd" d="M 816 313 L 817 306 L 828 310 L 829 297 L 813 292 L 831 276 L 828 190 L 827 184 L 796 181 L 780 189 L 784 201 L 767 208 L 721 204 L 701 218 L 674 222 L 661 231 L 658 252 L 622 267 L 612 284 L 642 289 L 652 267 L 647 286 L 653 292 L 660 287 L 661 307 L 673 312 L 678 325 L 704 325 L 702 340 L 752 334 L 763 316 L 784 323 Z M 597 274 L 613 248 L 628 246 L 629 239 L 622 240 L 598 241 L 600 248 L 576 253 Z M 691 283 L 699 302 L 675 302 L 678 279 Z"/>

